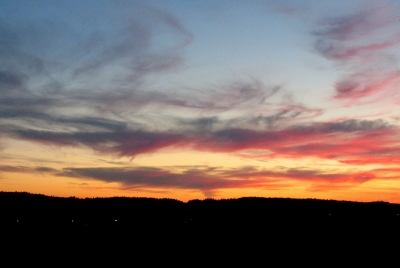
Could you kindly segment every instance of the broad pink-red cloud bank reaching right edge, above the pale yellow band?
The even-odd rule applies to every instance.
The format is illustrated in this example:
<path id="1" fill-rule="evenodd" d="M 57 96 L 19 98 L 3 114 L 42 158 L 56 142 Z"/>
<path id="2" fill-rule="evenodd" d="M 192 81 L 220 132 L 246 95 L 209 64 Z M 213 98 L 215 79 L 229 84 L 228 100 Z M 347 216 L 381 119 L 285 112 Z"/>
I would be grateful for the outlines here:
<path id="1" fill-rule="evenodd" d="M 229 129 L 198 140 L 195 148 L 215 152 L 255 149 L 264 152 L 267 158 L 320 157 L 343 163 L 349 159 L 356 163 L 356 159 L 361 161 L 372 157 L 382 163 L 387 159 L 384 156 L 400 156 L 398 133 L 397 128 L 385 125 L 380 120 L 346 120 L 289 127 L 279 131 Z M 378 154 L 380 157 L 376 157 Z M 260 154 L 254 157 L 259 158 Z"/>

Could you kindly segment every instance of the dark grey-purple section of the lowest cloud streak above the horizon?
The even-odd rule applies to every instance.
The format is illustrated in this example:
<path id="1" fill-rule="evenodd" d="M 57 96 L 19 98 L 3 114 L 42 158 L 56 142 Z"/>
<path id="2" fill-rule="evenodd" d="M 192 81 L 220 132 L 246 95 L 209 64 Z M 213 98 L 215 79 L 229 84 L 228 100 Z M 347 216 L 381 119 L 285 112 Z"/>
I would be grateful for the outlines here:
<path id="1" fill-rule="evenodd" d="M 273 172 L 268 172 L 268 174 L 271 175 Z M 65 168 L 59 175 L 95 179 L 103 182 L 118 182 L 124 189 L 141 187 L 180 188 L 200 190 L 206 195 L 218 189 L 252 187 L 269 183 L 266 178 L 263 180 L 250 179 L 260 174 L 254 168 L 248 167 L 235 170 L 201 166 L 186 167 L 182 173 L 154 167 Z M 275 182 L 275 180 L 272 180 L 272 182 Z"/>

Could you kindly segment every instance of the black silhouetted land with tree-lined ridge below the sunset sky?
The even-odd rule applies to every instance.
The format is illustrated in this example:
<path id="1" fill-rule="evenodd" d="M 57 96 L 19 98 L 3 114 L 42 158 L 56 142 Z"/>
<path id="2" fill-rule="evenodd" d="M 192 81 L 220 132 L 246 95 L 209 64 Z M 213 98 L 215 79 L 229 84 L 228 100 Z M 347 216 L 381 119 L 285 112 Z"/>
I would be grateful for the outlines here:
<path id="1" fill-rule="evenodd" d="M 113 256 L 171 263 L 191 256 L 191 262 L 217 257 L 234 263 L 283 253 L 282 263 L 299 257 L 308 263 L 320 254 L 365 260 L 382 247 L 398 256 L 400 248 L 400 204 L 386 202 L 245 197 L 184 203 L 0 192 L 0 205 L 3 257 L 35 252 L 40 259 L 59 254 L 63 260 Z M 369 248 L 374 251 L 366 253 Z M 148 254 L 153 257 L 143 257 Z"/>

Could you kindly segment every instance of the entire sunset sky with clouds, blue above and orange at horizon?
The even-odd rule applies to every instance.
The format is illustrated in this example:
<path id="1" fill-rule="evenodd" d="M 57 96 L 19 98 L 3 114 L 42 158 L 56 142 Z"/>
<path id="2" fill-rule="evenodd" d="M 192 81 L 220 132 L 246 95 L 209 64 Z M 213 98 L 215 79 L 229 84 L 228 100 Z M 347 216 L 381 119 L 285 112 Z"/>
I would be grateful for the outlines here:
<path id="1" fill-rule="evenodd" d="M 399 1 L 0 2 L 0 190 L 400 203 Z"/>

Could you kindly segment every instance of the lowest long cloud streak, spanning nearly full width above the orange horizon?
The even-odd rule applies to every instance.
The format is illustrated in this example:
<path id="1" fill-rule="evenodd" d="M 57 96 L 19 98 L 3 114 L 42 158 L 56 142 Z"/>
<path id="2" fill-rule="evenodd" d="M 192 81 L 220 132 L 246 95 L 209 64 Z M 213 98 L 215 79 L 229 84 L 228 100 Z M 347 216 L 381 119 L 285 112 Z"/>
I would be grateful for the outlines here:
<path id="1" fill-rule="evenodd" d="M 2 172 L 42 173 L 104 183 L 118 183 L 125 191 L 142 188 L 186 189 L 201 191 L 206 196 L 224 189 L 285 189 L 296 185 L 296 181 L 311 183 L 310 191 L 319 191 L 318 189 L 329 191 L 330 188 L 336 189 L 335 187 L 349 188 L 371 180 L 390 179 L 387 173 L 399 173 L 397 168 L 343 173 L 309 168 L 266 170 L 253 166 L 231 169 L 212 166 L 93 167 L 63 168 L 61 171 L 43 166 L 0 166 L 0 170 Z"/>

